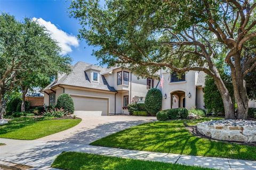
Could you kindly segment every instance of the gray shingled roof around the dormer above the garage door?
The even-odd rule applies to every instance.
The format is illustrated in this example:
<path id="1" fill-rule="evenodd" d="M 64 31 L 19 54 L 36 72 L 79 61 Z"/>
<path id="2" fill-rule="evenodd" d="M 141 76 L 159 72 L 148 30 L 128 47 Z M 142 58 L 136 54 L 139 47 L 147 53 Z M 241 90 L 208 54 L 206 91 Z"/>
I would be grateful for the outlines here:
<path id="1" fill-rule="evenodd" d="M 71 71 L 71 73 L 64 75 L 57 82 L 52 82 L 44 90 L 46 90 L 50 87 L 56 86 L 58 84 L 64 84 L 64 85 L 69 85 L 69 86 L 116 91 L 116 89 L 114 87 L 109 86 L 105 77 L 103 77 L 102 75 L 100 75 L 100 77 L 99 77 L 100 78 L 99 83 L 90 82 L 88 75 L 85 72 L 85 70 L 88 70 L 88 69 L 99 70 L 100 74 L 107 70 L 106 68 L 103 68 L 100 66 L 96 66 L 96 65 L 92 65 L 92 64 L 88 64 L 88 63 L 84 63 L 84 62 L 77 62 L 73 66 L 73 70 Z"/>

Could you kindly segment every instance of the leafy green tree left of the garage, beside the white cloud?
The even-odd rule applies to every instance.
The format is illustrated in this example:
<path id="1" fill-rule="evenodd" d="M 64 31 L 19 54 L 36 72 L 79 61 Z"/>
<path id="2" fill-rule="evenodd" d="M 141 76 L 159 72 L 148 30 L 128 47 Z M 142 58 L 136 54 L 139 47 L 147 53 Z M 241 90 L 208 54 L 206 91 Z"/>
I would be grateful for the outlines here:
<path id="1" fill-rule="evenodd" d="M 70 57 L 60 56 L 61 49 L 57 42 L 51 39 L 44 27 L 28 18 L 24 22 L 18 22 L 14 16 L 2 13 L 0 37 L 0 119 L 2 119 L 3 101 L 7 91 L 20 86 L 22 106 L 25 108 L 27 89 L 45 83 L 43 80 L 49 78 L 54 71 L 56 74 L 62 64 L 65 66 L 70 64 Z"/>

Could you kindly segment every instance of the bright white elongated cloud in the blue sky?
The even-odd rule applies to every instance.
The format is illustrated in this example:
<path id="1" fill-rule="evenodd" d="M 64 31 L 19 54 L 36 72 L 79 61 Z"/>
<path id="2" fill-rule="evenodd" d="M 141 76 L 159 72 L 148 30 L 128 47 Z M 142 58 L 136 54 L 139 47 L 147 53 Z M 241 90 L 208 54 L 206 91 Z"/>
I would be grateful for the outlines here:
<path id="1" fill-rule="evenodd" d="M 58 29 L 50 21 L 45 21 L 42 18 L 33 18 L 33 21 L 37 21 L 51 33 L 51 37 L 59 43 L 59 46 L 62 49 L 61 54 L 72 52 L 72 46 L 79 46 L 78 40 L 75 36 L 69 35 L 67 32 Z"/>

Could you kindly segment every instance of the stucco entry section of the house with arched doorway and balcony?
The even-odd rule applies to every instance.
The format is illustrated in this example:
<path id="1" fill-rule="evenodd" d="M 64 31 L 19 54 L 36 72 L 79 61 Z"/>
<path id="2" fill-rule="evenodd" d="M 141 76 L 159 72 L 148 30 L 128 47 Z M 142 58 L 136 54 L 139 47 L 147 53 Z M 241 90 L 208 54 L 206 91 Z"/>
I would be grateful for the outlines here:
<path id="1" fill-rule="evenodd" d="M 205 109 L 204 72 L 189 71 L 180 76 L 176 73 L 163 72 L 163 79 L 162 109 L 178 107 Z"/>

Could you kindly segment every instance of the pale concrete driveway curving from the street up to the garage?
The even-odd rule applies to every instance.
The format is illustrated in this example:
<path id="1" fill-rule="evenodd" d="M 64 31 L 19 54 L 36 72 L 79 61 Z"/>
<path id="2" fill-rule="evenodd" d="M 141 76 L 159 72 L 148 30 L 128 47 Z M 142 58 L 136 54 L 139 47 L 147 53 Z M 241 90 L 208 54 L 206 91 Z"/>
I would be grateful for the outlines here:
<path id="1" fill-rule="evenodd" d="M 141 123 L 155 121 L 155 117 L 140 116 L 79 116 L 82 122 L 75 127 L 37 140 L 0 138 L 0 164 L 16 163 L 30 169 L 52 169 L 53 160 L 62 151 L 75 150 L 109 134 Z"/>

